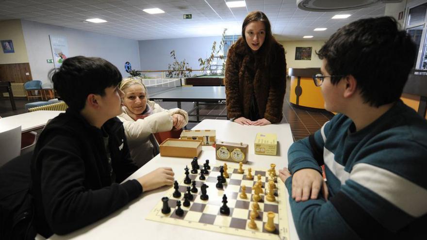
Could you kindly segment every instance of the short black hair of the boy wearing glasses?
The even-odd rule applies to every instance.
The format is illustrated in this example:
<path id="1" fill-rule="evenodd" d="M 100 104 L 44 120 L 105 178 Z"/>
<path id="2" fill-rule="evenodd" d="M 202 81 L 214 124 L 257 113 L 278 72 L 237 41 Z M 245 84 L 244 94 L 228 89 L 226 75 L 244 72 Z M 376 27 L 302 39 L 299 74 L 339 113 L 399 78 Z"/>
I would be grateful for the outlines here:
<path id="1" fill-rule="evenodd" d="M 398 100 L 414 64 L 415 44 L 393 17 L 354 21 L 340 28 L 316 54 L 330 75 L 352 75 L 361 96 L 379 107 Z M 331 78 L 337 84 L 341 78 Z"/>

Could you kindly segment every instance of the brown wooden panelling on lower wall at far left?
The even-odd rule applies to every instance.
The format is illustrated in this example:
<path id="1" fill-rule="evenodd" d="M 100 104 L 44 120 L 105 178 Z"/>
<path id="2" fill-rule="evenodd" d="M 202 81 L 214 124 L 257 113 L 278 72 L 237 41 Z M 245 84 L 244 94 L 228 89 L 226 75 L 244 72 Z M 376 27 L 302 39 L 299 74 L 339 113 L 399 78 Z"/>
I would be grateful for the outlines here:
<path id="1" fill-rule="evenodd" d="M 29 73 L 30 75 L 25 75 Z M 30 64 L 0 64 L 0 81 L 11 81 L 15 83 L 33 80 Z"/>

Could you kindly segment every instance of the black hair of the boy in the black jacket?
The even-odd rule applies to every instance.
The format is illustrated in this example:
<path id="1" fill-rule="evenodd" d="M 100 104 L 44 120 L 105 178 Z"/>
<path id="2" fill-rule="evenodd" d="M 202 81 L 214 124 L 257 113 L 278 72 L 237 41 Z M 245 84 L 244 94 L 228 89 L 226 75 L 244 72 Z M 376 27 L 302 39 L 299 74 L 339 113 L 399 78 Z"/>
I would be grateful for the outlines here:
<path id="1" fill-rule="evenodd" d="M 122 75 L 115 65 L 102 58 L 77 56 L 67 58 L 61 67 L 52 69 L 49 78 L 66 104 L 80 111 L 89 94 L 104 96 L 104 90 L 117 86 Z"/>

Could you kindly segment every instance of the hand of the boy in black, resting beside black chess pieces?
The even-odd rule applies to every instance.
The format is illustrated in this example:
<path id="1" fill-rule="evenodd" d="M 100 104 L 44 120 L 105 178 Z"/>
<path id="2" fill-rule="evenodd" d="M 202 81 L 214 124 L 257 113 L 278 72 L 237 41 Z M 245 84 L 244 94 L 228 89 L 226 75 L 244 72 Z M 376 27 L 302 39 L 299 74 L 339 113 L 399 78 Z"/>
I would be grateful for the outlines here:
<path id="1" fill-rule="evenodd" d="M 170 167 L 159 167 L 158 169 L 136 179 L 142 186 L 144 192 L 172 185 L 174 183 L 174 172 Z"/>

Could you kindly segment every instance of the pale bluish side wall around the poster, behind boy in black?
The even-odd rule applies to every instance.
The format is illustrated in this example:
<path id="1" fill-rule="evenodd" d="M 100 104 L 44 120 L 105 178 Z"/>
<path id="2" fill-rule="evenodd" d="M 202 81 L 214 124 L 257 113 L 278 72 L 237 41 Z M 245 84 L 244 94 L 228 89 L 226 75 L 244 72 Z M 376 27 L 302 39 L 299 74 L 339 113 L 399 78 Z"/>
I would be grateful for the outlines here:
<path id="1" fill-rule="evenodd" d="M 67 57 L 100 57 L 114 64 L 123 77 L 129 76 L 124 70 L 125 62 L 131 62 L 132 68 L 139 69 L 138 41 L 53 26 L 38 22 L 22 20 L 22 30 L 27 47 L 28 59 L 34 80 L 48 82 L 48 72 L 54 66 L 48 64 L 52 59 L 49 35 L 66 37 L 68 43 Z"/>

